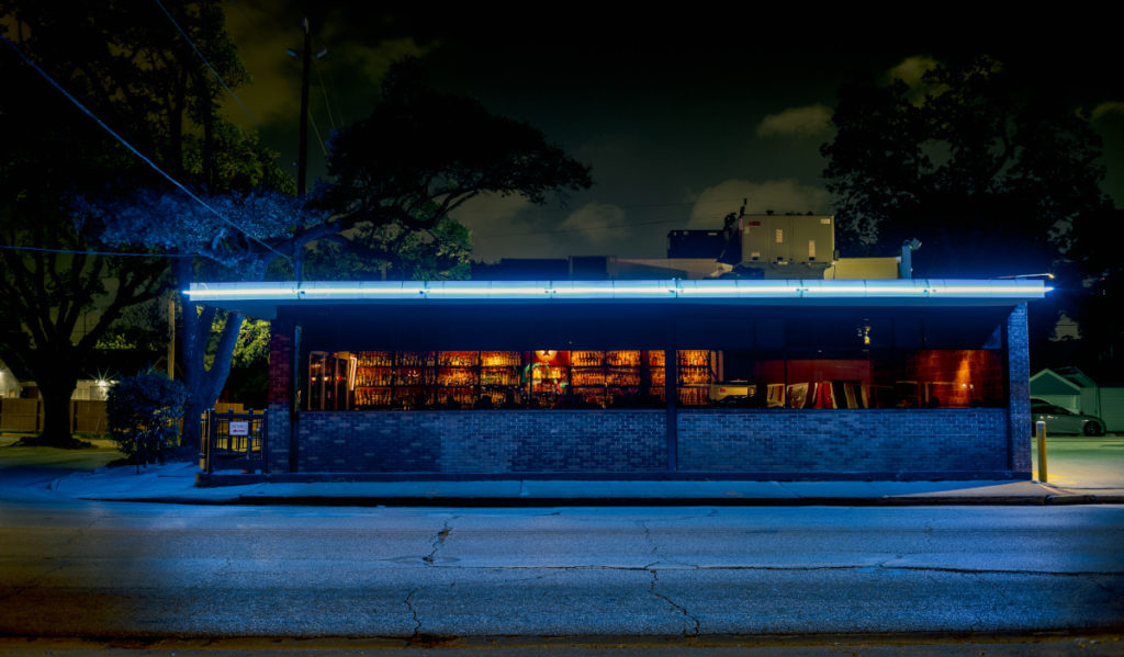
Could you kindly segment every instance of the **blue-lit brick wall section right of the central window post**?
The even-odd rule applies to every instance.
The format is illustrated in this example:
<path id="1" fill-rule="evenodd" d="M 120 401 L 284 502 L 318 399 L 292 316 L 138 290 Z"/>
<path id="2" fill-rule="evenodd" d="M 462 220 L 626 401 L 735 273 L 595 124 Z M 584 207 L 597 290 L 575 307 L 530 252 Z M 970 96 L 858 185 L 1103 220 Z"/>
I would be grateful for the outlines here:
<path id="1" fill-rule="evenodd" d="M 679 469 L 752 473 L 1006 471 L 1006 411 L 681 411 Z"/>

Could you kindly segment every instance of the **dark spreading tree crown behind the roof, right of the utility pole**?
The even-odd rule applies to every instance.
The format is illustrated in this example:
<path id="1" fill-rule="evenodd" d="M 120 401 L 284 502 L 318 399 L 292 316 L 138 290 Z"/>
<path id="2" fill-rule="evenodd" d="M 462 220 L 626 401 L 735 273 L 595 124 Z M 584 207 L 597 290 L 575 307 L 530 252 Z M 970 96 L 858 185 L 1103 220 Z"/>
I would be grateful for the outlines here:
<path id="1" fill-rule="evenodd" d="M 371 115 L 332 140 L 316 204 L 352 221 L 430 227 L 482 192 L 535 203 L 591 184 L 589 168 L 527 124 L 428 88 L 404 62 Z"/>

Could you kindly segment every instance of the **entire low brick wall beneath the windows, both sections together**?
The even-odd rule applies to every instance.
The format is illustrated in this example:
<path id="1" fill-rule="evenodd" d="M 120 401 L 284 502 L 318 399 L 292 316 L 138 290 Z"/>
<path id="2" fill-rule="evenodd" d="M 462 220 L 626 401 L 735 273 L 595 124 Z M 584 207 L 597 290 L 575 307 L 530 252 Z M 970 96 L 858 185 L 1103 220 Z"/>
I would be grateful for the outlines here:
<path id="1" fill-rule="evenodd" d="M 1006 420 L 1003 409 L 685 409 L 679 469 L 1003 472 Z M 302 412 L 299 471 L 662 473 L 664 421 L 660 410 Z"/>

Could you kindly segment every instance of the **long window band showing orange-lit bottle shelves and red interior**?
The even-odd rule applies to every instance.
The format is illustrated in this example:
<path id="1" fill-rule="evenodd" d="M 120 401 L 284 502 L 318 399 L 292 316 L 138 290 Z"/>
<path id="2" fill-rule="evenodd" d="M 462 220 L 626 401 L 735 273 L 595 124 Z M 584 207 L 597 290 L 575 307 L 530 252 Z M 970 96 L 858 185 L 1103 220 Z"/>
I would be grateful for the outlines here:
<path id="1" fill-rule="evenodd" d="M 986 318 L 804 313 L 742 322 L 692 349 L 315 352 L 306 408 L 882 409 L 1006 404 L 1001 327 Z M 752 330 L 750 330 L 752 329 Z M 997 337 L 998 336 L 998 337 Z M 700 344 L 703 343 L 703 344 Z M 671 365 L 668 367 L 667 365 Z"/>

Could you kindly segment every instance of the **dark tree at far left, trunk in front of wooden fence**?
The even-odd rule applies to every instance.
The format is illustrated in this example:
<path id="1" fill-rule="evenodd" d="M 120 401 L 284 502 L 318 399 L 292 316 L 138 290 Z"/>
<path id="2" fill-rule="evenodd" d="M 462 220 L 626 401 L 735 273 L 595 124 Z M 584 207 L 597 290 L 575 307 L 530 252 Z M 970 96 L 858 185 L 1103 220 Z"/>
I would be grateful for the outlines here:
<path id="1" fill-rule="evenodd" d="M 124 309 L 158 293 L 165 271 L 157 259 L 105 255 L 115 249 L 99 231 L 74 222 L 69 199 L 119 191 L 146 173 L 19 55 L 107 125 L 165 146 L 149 129 L 163 116 L 158 99 L 142 92 L 155 52 L 137 40 L 137 12 L 114 2 L 88 9 L 0 1 L 8 39 L 0 44 L 8 89 L 0 95 L 0 355 L 35 377 L 45 405 L 39 440 L 57 446 L 75 444 L 69 402 L 78 378 L 90 375 L 98 341 Z"/>

